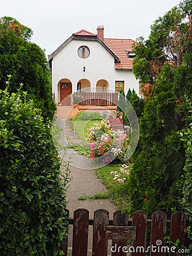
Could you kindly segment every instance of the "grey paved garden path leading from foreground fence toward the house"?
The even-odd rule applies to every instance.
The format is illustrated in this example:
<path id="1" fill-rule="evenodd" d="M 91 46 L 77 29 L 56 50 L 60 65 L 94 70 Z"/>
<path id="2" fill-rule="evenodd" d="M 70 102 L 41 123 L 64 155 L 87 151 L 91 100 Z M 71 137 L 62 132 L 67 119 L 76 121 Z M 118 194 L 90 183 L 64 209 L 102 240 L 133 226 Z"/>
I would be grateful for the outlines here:
<path id="1" fill-rule="evenodd" d="M 62 127 L 60 142 L 68 146 L 69 144 L 81 144 L 81 140 L 76 138 L 76 134 L 73 129 L 72 122 L 70 120 L 58 119 L 57 126 Z M 64 151 L 60 151 L 63 155 Z M 93 213 L 97 209 L 108 210 L 109 217 L 112 218 L 114 211 L 117 209 L 109 199 L 95 199 L 80 201 L 78 197 L 85 195 L 94 195 L 98 192 L 107 192 L 105 185 L 101 183 L 98 177 L 95 175 L 94 169 L 91 166 L 91 160 L 85 156 L 77 154 L 72 148 L 66 149 L 64 156 L 65 160 L 69 160 L 71 157 L 72 163 L 70 163 L 70 171 L 72 172 L 72 181 L 69 184 L 67 191 L 67 208 L 69 209 L 69 216 L 73 217 L 74 210 L 78 208 L 85 208 L 89 210 L 89 218 L 93 218 Z M 93 230 L 89 228 L 89 240 L 88 240 L 88 256 L 91 256 Z M 109 245 L 110 248 L 110 245 Z M 72 227 L 69 229 L 69 241 L 68 241 L 68 255 L 72 254 Z"/>

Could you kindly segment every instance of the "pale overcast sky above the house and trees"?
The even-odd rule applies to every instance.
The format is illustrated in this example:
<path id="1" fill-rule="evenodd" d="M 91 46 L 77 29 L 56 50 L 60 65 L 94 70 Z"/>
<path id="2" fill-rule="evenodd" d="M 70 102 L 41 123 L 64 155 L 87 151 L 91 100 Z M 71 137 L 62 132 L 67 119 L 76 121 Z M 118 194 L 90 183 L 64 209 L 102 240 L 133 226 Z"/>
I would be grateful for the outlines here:
<path id="1" fill-rule="evenodd" d="M 51 54 L 74 32 L 106 38 L 148 38 L 151 24 L 180 0 L 1 0 L 0 16 L 11 16 L 34 31 L 31 41 Z"/>

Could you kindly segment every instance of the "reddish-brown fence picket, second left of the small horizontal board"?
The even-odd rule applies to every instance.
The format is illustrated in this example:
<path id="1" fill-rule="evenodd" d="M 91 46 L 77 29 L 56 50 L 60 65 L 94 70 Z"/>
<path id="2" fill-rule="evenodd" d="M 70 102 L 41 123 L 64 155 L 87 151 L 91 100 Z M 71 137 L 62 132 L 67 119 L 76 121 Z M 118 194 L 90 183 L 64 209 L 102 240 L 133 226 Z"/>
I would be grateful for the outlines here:
<path id="1" fill-rule="evenodd" d="M 73 217 L 72 256 L 86 256 L 89 233 L 89 210 L 77 209 Z"/>

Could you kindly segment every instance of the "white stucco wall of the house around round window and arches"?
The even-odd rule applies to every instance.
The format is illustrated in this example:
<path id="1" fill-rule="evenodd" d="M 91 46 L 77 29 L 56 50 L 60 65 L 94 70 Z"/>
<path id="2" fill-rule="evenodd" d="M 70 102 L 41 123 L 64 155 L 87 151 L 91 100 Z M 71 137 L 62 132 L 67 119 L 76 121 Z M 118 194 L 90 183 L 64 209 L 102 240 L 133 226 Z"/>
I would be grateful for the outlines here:
<path id="1" fill-rule="evenodd" d="M 78 56 L 78 48 L 87 46 L 90 55 L 87 59 Z M 83 71 L 83 68 L 85 72 Z M 114 57 L 97 41 L 72 40 L 57 53 L 52 60 L 52 87 L 56 102 L 59 102 L 58 83 L 61 79 L 72 81 L 72 90 L 76 92 L 77 82 L 87 79 L 91 90 L 95 91 L 98 80 L 107 80 L 108 88 L 115 89 L 115 81 L 124 81 L 124 91 L 135 89 L 139 94 L 139 82 L 130 70 L 115 70 Z M 107 88 L 106 88 L 107 91 Z"/>

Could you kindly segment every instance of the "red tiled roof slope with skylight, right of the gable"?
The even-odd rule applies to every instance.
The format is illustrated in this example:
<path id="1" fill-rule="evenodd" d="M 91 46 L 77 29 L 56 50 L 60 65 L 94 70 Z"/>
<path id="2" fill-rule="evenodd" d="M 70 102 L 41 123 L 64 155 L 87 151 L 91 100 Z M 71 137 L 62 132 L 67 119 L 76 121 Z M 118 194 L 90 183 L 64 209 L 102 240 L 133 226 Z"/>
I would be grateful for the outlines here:
<path id="1" fill-rule="evenodd" d="M 132 58 L 128 58 L 126 50 L 132 51 L 132 39 L 104 38 L 103 42 L 119 57 L 120 63 L 115 63 L 116 68 L 132 69 Z"/>

